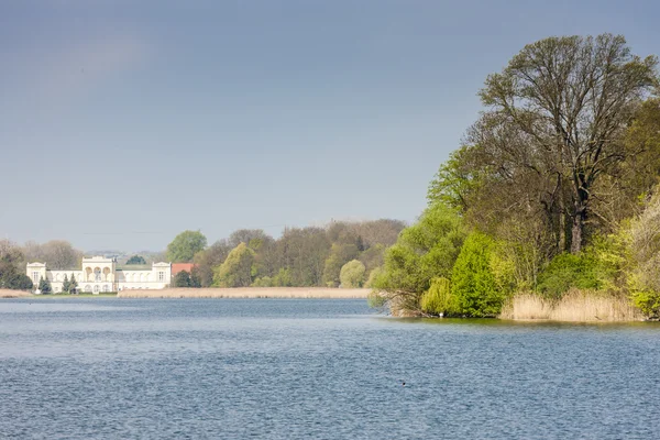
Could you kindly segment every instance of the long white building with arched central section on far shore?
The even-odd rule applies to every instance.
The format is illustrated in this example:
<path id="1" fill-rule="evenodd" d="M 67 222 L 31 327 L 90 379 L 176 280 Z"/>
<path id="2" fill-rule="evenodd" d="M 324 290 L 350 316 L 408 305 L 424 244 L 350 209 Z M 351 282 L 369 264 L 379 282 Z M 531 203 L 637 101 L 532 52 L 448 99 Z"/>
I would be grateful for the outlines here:
<path id="1" fill-rule="evenodd" d="M 67 271 L 50 271 L 44 263 L 28 263 L 26 274 L 38 286 L 41 278 L 48 279 L 53 293 L 62 292 L 64 276 L 72 276 L 78 283 L 79 292 L 99 294 L 101 292 L 119 292 L 124 289 L 162 289 L 169 285 L 172 279 L 172 264 L 153 263 L 151 267 L 139 266 L 135 268 L 117 268 L 113 258 L 92 256 L 82 258 L 82 267 Z"/>

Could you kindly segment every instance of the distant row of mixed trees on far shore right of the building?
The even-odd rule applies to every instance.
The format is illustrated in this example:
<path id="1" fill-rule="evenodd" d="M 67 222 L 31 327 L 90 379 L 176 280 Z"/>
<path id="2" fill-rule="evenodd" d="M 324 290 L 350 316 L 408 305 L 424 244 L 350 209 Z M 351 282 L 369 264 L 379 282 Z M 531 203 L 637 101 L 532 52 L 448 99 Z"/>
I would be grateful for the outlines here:
<path id="1" fill-rule="evenodd" d="M 331 222 L 287 228 L 278 239 L 242 229 L 210 246 L 199 231 L 184 231 L 167 246 L 172 262 L 191 262 L 176 287 L 362 287 L 383 265 L 405 223 L 398 220 Z"/>

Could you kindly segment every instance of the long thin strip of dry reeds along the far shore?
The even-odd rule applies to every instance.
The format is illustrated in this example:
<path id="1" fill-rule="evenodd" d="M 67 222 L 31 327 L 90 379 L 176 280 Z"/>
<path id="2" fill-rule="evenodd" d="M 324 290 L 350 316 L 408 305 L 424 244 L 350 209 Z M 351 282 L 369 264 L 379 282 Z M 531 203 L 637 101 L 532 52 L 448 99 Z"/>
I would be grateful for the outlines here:
<path id="1" fill-rule="evenodd" d="M 167 288 L 123 290 L 119 298 L 365 298 L 370 289 L 324 287 Z"/>

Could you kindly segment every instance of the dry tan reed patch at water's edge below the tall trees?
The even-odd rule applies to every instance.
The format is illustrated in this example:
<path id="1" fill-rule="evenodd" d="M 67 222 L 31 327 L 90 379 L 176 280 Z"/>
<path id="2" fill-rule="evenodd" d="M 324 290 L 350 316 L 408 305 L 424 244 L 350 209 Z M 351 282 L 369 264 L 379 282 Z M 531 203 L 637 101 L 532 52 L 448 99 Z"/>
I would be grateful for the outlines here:
<path id="1" fill-rule="evenodd" d="M 502 310 L 501 319 L 546 319 L 569 322 L 640 321 L 644 316 L 626 297 L 592 290 L 571 290 L 560 299 L 534 294 L 516 295 Z"/>

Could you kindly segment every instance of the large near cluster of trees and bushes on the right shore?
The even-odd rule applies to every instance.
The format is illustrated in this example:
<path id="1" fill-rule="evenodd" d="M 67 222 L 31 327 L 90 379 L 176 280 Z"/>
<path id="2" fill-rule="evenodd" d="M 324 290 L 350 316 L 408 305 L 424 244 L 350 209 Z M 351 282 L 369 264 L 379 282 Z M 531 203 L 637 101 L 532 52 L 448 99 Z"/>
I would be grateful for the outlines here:
<path id="1" fill-rule="evenodd" d="M 408 314 L 497 316 L 571 289 L 660 312 L 658 59 L 551 37 L 486 78 L 483 110 L 374 286 Z"/>

